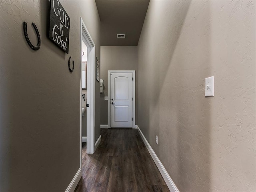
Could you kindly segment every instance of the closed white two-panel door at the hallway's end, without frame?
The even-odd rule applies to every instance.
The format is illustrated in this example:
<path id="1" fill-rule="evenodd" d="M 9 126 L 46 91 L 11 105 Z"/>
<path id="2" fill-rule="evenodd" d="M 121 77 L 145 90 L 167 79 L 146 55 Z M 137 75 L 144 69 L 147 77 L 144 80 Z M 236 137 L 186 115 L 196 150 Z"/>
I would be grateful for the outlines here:
<path id="1" fill-rule="evenodd" d="M 132 128 L 132 73 L 110 73 L 111 127 Z"/>

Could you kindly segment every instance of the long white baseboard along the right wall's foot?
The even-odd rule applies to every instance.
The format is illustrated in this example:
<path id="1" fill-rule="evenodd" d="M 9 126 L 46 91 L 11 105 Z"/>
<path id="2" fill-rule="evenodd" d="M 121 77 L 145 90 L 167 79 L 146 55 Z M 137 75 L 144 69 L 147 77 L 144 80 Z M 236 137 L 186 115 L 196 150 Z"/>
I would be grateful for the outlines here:
<path id="1" fill-rule="evenodd" d="M 152 147 L 150 146 L 150 144 L 146 140 L 145 136 L 141 132 L 138 125 L 137 125 L 137 129 L 140 132 L 140 136 L 142 137 L 142 140 L 143 140 L 144 144 L 146 145 L 146 148 L 148 149 L 148 152 L 150 153 L 150 155 L 153 158 L 156 166 L 158 167 L 160 173 L 162 174 L 162 176 L 164 178 L 164 181 L 166 182 L 170 192 L 179 192 L 178 188 L 176 187 L 176 185 L 172 181 L 172 178 L 170 177 L 170 175 L 168 174 L 168 172 L 164 168 L 164 166 L 163 166 L 162 162 L 159 160 L 158 156 L 156 156 L 156 153 L 154 152 L 154 150 L 152 149 Z"/>

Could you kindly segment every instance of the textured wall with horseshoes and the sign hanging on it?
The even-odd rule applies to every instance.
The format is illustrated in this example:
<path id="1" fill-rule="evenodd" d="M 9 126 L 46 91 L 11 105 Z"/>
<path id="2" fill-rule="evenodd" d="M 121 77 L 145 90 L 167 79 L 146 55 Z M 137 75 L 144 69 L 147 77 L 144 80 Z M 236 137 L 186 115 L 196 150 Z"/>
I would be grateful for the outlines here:
<path id="1" fill-rule="evenodd" d="M 100 57 L 100 19 L 94 0 L 60 3 L 70 17 L 69 54 L 47 37 L 50 1 L 0 1 L 0 191 L 65 191 L 79 168 L 80 16 Z M 23 34 L 34 22 L 41 48 Z M 68 70 L 68 58 L 75 62 Z M 96 83 L 95 138 L 100 135 Z"/>

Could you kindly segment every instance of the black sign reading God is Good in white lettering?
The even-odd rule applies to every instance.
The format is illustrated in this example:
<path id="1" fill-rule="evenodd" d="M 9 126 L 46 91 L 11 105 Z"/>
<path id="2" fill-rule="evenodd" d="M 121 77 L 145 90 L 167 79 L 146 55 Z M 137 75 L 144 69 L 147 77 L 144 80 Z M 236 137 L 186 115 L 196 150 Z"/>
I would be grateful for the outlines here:
<path id="1" fill-rule="evenodd" d="M 49 38 L 68 54 L 70 18 L 58 0 L 51 0 Z"/>

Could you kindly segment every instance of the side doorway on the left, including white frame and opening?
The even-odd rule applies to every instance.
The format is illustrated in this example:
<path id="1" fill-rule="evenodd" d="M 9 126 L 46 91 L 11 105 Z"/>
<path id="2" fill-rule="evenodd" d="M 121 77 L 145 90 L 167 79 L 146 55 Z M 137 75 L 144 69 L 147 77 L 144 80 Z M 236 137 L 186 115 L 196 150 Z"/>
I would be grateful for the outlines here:
<path id="1" fill-rule="evenodd" d="M 84 54 L 83 54 L 84 51 Z M 86 58 L 87 55 L 87 58 Z M 80 18 L 80 168 L 82 168 L 82 143 L 86 142 L 86 153 L 94 153 L 95 120 L 95 44 L 82 18 Z M 84 108 L 84 116 L 83 110 Z M 83 123 L 86 120 L 86 123 Z M 84 132 L 83 132 L 83 124 Z M 85 133 L 86 130 L 86 133 Z"/>

